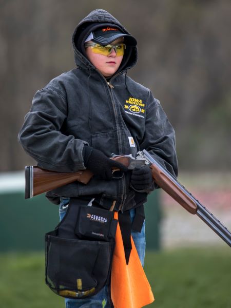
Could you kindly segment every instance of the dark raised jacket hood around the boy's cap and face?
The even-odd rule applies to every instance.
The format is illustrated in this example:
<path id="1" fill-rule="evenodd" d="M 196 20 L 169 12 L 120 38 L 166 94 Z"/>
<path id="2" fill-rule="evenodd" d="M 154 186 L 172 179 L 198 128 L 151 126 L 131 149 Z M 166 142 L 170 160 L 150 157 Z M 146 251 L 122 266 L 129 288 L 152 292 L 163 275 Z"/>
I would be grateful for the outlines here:
<path id="1" fill-rule="evenodd" d="M 75 64 L 81 68 L 93 68 L 87 57 L 82 53 L 83 44 L 91 31 L 100 27 L 102 24 L 105 26 L 116 26 L 122 32 L 129 33 L 125 27 L 110 13 L 102 9 L 96 9 L 90 12 L 83 20 L 76 26 L 72 35 L 72 46 L 74 51 Z M 123 61 L 119 71 L 127 70 L 137 63 L 138 51 L 136 46 L 127 46 L 123 57 Z"/>

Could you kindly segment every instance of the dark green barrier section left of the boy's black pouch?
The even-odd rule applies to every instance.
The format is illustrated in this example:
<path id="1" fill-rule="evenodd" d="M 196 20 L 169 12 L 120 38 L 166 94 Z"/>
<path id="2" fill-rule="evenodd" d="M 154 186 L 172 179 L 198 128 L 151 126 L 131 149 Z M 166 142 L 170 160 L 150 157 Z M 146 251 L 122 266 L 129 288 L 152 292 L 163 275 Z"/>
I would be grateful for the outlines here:
<path id="1" fill-rule="evenodd" d="M 24 192 L 1 194 L 0 251 L 41 250 L 44 235 L 59 223 L 59 207 L 44 195 L 24 199 Z"/>

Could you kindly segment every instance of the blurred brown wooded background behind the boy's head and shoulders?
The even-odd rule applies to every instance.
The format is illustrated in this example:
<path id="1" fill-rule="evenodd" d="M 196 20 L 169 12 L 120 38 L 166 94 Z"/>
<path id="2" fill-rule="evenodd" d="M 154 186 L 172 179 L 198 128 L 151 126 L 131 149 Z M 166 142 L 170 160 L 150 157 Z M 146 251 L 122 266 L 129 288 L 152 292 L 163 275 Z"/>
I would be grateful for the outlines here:
<path id="1" fill-rule="evenodd" d="M 0 171 L 33 163 L 17 133 L 33 94 L 74 67 L 71 35 L 109 11 L 138 40 L 128 74 L 150 88 L 175 127 L 180 169 L 231 168 L 229 0 L 0 1 Z"/>

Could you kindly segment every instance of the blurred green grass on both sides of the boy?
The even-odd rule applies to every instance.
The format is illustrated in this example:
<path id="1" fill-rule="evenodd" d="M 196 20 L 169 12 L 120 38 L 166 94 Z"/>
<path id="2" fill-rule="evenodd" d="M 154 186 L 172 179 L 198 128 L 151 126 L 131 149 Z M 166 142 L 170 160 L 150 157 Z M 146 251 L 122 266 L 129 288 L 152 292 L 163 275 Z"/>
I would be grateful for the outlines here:
<path id="1" fill-rule="evenodd" d="M 0 255 L 0 297 L 4 308 L 58 308 L 64 299 L 45 284 L 42 253 Z M 156 298 L 146 307 L 229 308 L 230 248 L 147 251 L 145 273 Z"/>

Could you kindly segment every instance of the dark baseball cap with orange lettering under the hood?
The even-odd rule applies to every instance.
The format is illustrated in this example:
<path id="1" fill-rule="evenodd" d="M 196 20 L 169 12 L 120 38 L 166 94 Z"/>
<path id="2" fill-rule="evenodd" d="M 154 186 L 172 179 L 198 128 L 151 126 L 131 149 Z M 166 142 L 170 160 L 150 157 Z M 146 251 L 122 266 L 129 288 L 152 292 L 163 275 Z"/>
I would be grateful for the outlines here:
<path id="1" fill-rule="evenodd" d="M 124 36 L 126 45 L 130 46 L 137 45 L 136 38 L 134 38 L 130 34 L 121 32 L 121 30 L 113 26 L 107 26 L 107 27 L 101 26 L 100 28 L 97 28 L 88 35 L 85 42 L 92 41 L 94 43 L 98 43 L 104 46 L 110 44 L 114 40 L 117 40 L 117 38 L 121 36 Z"/>

